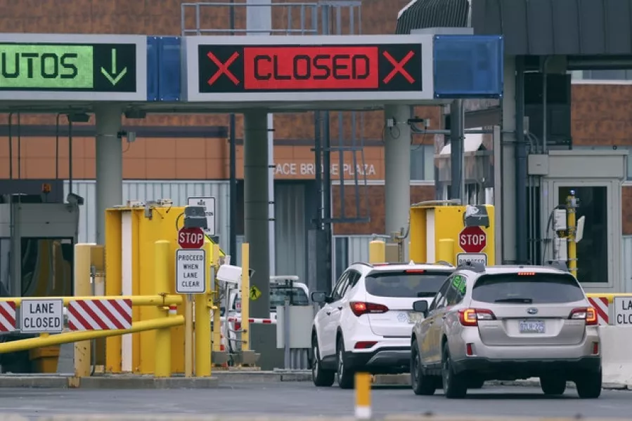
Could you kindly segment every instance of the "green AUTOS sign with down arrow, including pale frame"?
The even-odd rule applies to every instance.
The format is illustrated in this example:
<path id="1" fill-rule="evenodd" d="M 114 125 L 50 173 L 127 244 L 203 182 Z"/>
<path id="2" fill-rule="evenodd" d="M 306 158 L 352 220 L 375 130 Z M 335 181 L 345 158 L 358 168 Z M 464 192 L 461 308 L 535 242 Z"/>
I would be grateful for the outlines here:
<path id="1" fill-rule="evenodd" d="M 117 38 L 111 35 L 50 37 L 74 42 L 6 42 L 0 34 L 0 99 L 146 100 L 146 37 L 120 43 L 79 42 Z"/>

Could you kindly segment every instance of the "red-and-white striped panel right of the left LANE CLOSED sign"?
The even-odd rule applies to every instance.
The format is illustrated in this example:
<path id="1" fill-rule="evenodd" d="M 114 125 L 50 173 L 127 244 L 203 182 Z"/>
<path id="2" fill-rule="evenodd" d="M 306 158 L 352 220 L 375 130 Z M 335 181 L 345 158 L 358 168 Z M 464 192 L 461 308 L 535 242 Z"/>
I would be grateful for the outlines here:
<path id="1" fill-rule="evenodd" d="M 68 303 L 70 330 L 131 328 L 131 300 L 72 300 Z"/>

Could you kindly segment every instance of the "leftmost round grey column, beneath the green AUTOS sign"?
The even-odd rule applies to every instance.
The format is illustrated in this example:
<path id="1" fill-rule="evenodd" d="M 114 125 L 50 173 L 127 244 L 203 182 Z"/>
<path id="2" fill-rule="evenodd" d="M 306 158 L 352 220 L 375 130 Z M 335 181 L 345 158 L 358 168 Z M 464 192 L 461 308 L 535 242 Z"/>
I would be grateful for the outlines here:
<path id="1" fill-rule="evenodd" d="M 96 117 L 96 242 L 105 243 L 105 209 L 123 201 L 121 109 L 103 105 Z"/>

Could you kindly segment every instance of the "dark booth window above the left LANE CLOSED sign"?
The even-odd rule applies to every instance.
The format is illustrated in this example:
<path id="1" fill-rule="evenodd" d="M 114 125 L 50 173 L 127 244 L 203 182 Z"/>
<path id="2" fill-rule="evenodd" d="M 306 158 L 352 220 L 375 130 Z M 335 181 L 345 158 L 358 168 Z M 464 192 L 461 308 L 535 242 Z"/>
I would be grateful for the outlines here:
<path id="1" fill-rule="evenodd" d="M 72 295 L 72 239 L 22 237 L 20 261 L 23 297 Z"/>

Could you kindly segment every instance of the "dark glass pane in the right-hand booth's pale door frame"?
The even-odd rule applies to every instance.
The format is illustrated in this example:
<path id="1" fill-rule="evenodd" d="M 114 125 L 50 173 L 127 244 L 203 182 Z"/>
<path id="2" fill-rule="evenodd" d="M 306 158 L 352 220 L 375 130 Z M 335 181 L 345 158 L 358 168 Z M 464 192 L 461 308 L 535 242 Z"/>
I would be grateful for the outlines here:
<path id="1" fill-rule="evenodd" d="M 606 186 L 559 187 L 559 204 L 570 191 L 579 199 L 576 218 L 586 217 L 583 238 L 577 243 L 577 279 L 581 283 L 608 282 L 608 190 Z"/>

